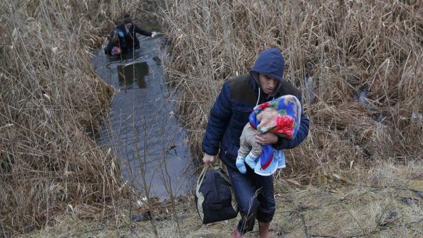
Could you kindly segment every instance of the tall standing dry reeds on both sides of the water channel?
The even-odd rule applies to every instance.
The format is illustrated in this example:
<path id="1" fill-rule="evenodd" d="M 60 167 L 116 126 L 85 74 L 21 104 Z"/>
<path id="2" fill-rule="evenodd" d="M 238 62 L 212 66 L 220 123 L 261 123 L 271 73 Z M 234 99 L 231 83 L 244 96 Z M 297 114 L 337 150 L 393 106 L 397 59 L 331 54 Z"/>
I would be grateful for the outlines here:
<path id="1" fill-rule="evenodd" d="M 422 158 L 422 1 L 162 3 L 168 82 L 194 158 L 222 82 L 247 73 L 267 47 L 282 49 L 285 78 L 303 91 L 311 121 L 306 142 L 287 153 L 286 174 Z M 122 12 L 139 13 L 134 5 L 0 2 L 1 228 L 25 233 L 67 211 L 117 213 L 126 194 L 117 161 L 86 134 L 98 130 L 113 93 L 89 50 Z"/>

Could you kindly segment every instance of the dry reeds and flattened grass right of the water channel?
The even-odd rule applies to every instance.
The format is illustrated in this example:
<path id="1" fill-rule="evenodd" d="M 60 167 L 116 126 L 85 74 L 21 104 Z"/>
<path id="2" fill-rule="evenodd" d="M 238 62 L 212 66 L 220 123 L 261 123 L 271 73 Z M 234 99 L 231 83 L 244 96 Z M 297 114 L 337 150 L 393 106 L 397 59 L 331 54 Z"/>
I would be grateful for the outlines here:
<path id="1" fill-rule="evenodd" d="M 285 179 L 277 180 L 273 236 L 422 235 L 422 187 L 410 190 L 397 177 L 422 173 L 412 162 L 423 158 L 422 3 L 211 0 L 165 5 L 168 82 L 179 93 L 193 158 L 202 156 L 209 109 L 222 83 L 248 73 L 262 49 L 281 49 L 284 78 L 301 88 L 310 133 L 300 147 L 286 152 L 288 167 L 277 174 Z M 369 166 L 368 176 L 358 170 L 352 177 L 356 182 L 345 177 L 363 166 Z M 334 181 L 339 186 L 332 187 Z M 284 183 L 301 189 L 290 190 Z M 219 237 L 222 233 L 210 231 L 215 226 L 230 233 L 231 225 L 216 224 L 191 235 Z"/>

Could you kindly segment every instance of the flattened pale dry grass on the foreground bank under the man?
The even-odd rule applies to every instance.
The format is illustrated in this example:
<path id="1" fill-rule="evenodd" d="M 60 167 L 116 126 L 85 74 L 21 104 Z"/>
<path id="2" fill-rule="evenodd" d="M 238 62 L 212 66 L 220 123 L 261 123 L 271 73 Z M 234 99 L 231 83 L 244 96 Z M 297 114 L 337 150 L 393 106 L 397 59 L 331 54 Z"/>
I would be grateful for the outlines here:
<path id="1" fill-rule="evenodd" d="M 421 237 L 422 163 L 382 163 L 328 174 L 320 187 L 275 184 L 276 213 L 271 237 Z M 181 229 L 168 217 L 157 219 L 157 237 L 229 237 L 237 219 L 201 225 L 192 197 L 179 204 Z M 239 217 L 238 217 L 239 218 Z M 155 237 L 150 222 L 114 224 L 60 217 L 56 226 L 31 237 Z M 257 227 L 244 237 L 257 237 Z"/>

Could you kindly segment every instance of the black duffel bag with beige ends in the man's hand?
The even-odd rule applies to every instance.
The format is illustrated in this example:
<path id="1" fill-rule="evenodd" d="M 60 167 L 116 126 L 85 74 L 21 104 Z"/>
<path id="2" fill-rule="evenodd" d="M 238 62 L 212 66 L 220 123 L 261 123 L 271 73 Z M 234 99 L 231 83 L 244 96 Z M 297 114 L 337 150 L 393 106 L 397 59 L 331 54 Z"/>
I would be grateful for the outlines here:
<path id="1" fill-rule="evenodd" d="M 238 215 L 231 182 L 219 165 L 205 165 L 195 191 L 198 215 L 203 224 L 225 221 Z"/>

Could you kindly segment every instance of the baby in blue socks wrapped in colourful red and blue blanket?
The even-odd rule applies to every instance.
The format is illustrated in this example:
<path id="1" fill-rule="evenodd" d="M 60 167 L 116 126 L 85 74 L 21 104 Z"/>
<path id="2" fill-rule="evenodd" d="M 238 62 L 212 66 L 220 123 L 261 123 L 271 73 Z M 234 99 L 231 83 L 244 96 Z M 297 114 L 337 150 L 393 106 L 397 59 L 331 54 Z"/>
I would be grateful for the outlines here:
<path id="1" fill-rule="evenodd" d="M 258 145 L 255 135 L 273 132 L 277 136 L 294 139 L 300 120 L 301 104 L 293 95 L 284 95 L 256 106 L 240 137 L 240 150 L 236 158 L 238 170 L 242 174 L 247 173 L 247 163 L 256 174 L 270 176 L 276 169 L 285 167 L 284 152 L 275 150 L 272 145 Z"/>

